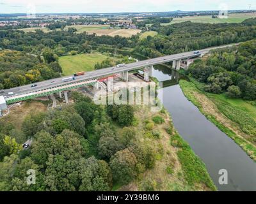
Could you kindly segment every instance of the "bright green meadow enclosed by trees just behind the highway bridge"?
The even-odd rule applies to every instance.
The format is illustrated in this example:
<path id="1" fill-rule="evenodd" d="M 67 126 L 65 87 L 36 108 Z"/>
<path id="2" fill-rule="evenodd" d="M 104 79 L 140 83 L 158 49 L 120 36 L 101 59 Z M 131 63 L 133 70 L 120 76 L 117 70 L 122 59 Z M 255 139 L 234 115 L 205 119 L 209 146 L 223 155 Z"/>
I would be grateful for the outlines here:
<path id="1" fill-rule="evenodd" d="M 72 75 L 79 71 L 92 71 L 97 62 L 102 62 L 107 59 L 107 55 L 100 53 L 68 55 L 59 58 L 60 66 L 63 70 L 63 75 Z M 116 59 L 115 57 L 109 57 Z"/>

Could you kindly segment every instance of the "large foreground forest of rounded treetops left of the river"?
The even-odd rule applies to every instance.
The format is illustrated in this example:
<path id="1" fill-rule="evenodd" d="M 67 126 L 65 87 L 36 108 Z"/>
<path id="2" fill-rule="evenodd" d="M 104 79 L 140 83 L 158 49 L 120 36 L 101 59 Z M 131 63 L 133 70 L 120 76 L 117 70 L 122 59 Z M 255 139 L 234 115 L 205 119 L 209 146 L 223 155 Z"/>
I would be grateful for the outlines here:
<path id="1" fill-rule="evenodd" d="M 19 134 L 33 140 L 31 149 L 22 149 L 10 137 L 15 127 L 1 120 L 1 191 L 109 191 L 154 166 L 154 149 L 136 142 L 132 106 L 105 110 L 78 92 L 72 99 L 74 105 L 24 119 Z M 23 182 L 28 168 L 39 172 L 36 185 Z"/>

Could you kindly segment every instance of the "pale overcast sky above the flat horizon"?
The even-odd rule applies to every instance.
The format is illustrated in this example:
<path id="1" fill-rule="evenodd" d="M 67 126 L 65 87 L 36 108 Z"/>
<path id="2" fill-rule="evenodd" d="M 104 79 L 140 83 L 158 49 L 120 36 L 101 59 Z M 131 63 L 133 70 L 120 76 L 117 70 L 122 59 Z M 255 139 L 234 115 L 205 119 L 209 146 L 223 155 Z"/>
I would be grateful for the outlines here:
<path id="1" fill-rule="evenodd" d="M 256 9 L 255 0 L 0 0 L 0 13 L 108 13 Z"/>

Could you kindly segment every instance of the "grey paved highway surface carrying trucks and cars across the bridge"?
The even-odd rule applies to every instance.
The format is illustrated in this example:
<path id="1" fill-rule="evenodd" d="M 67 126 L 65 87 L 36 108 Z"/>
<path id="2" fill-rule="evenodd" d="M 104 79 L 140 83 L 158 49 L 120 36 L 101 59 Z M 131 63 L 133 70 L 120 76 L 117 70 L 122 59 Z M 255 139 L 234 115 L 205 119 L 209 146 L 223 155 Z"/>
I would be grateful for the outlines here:
<path id="1" fill-rule="evenodd" d="M 206 48 L 206 49 L 200 50 L 200 54 L 206 54 L 210 50 L 214 50 L 214 49 L 217 49 L 217 48 L 232 47 L 234 45 L 238 45 L 238 44 L 223 45 L 223 46 L 220 46 L 220 47 Z M 60 85 L 70 84 L 72 82 L 79 82 L 81 80 L 92 80 L 92 79 L 104 77 L 106 75 L 121 73 L 123 71 L 131 71 L 131 70 L 142 68 L 142 67 L 145 67 L 145 66 L 163 64 L 163 63 L 171 62 L 171 61 L 174 61 L 174 60 L 177 60 L 177 59 L 188 59 L 188 58 L 191 58 L 191 57 L 197 57 L 200 54 L 195 54 L 194 52 L 184 52 L 184 53 L 180 53 L 180 54 L 166 55 L 164 57 L 157 57 L 157 58 L 154 58 L 154 59 L 147 59 L 147 60 L 144 60 L 144 61 L 133 62 L 131 64 L 125 64 L 125 66 L 120 67 L 120 68 L 117 68 L 115 66 L 115 67 L 111 67 L 111 68 L 99 69 L 99 70 L 95 70 L 95 71 L 91 71 L 91 72 L 86 72 L 85 75 L 78 76 L 78 77 L 76 77 L 75 80 L 72 80 L 71 82 L 62 82 L 62 79 L 67 78 L 67 77 L 72 77 L 72 76 L 54 78 L 54 79 L 51 79 L 51 80 L 45 80 L 43 82 L 37 82 L 36 87 L 31 87 L 32 84 L 29 84 L 29 85 L 23 85 L 23 86 L 20 86 L 20 87 L 15 87 L 15 88 L 12 88 L 12 89 L 5 89 L 1 92 L 0 96 L 8 97 L 8 92 L 13 92 L 14 95 L 20 95 L 20 94 L 25 94 L 25 93 L 29 93 L 29 92 L 36 92 L 36 91 L 40 91 L 40 90 L 44 90 L 44 89 L 58 87 Z M 83 71 L 83 70 L 81 70 L 81 71 Z M 10 96 L 10 97 L 12 97 L 12 96 Z"/>

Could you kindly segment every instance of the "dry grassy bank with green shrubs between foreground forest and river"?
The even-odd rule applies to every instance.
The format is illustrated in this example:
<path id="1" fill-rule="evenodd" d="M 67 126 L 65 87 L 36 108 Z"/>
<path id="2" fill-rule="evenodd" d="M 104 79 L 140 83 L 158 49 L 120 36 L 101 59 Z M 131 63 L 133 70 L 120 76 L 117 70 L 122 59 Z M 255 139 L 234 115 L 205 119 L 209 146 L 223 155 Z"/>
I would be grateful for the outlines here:
<path id="1" fill-rule="evenodd" d="M 216 191 L 205 164 L 173 126 L 167 110 L 136 108 L 136 131 L 141 143 L 155 150 L 156 164 L 118 191 Z"/>

